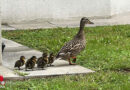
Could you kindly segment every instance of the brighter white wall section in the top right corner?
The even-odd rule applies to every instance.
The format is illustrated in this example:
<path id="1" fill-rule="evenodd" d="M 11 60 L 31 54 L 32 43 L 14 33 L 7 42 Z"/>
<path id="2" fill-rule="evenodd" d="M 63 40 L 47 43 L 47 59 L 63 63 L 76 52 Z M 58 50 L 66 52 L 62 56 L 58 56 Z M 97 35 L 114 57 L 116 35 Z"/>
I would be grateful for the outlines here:
<path id="1" fill-rule="evenodd" d="M 130 0 L 111 0 L 111 15 L 130 12 Z"/>

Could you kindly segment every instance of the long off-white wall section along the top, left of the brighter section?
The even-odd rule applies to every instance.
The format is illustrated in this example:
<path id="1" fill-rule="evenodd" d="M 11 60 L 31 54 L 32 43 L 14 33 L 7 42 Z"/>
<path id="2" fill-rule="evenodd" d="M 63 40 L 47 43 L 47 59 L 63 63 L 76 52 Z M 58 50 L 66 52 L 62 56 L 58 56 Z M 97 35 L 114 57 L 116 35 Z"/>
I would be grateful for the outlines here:
<path id="1" fill-rule="evenodd" d="M 109 0 L 0 0 L 2 21 L 8 23 L 30 20 L 68 19 L 73 17 L 106 17 L 110 15 Z"/>

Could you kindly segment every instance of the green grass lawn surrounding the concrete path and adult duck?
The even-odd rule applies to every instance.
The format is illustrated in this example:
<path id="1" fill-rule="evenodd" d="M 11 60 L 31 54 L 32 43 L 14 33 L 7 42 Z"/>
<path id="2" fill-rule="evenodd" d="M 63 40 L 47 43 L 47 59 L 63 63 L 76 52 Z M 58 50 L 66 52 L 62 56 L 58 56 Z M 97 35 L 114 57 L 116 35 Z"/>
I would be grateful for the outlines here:
<path id="1" fill-rule="evenodd" d="M 78 28 L 54 28 L 3 31 L 2 35 L 30 48 L 56 54 L 77 31 Z M 95 73 L 10 81 L 7 82 L 6 89 L 129 90 L 130 25 L 87 27 L 84 31 L 86 49 L 77 56 L 77 63 L 95 70 Z"/>

